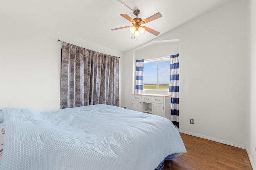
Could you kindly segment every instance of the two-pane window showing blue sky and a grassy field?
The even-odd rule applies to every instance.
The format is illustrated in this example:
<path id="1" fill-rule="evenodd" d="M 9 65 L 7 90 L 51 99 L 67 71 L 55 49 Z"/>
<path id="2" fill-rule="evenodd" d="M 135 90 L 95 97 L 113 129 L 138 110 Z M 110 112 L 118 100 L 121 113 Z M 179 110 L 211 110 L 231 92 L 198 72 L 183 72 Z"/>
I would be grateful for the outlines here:
<path id="1" fill-rule="evenodd" d="M 167 90 L 170 83 L 170 57 L 144 60 L 144 90 Z"/>

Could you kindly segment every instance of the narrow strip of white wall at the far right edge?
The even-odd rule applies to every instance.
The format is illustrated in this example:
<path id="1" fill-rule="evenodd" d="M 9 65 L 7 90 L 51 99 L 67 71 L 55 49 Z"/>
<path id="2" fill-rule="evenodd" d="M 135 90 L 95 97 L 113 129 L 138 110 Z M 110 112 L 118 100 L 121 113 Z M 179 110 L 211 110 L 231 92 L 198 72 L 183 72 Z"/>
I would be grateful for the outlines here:
<path id="1" fill-rule="evenodd" d="M 248 142 L 248 155 L 252 167 L 256 170 L 256 2 L 250 0 L 248 3 L 248 51 L 249 51 L 249 78 L 250 78 L 250 137 Z"/>

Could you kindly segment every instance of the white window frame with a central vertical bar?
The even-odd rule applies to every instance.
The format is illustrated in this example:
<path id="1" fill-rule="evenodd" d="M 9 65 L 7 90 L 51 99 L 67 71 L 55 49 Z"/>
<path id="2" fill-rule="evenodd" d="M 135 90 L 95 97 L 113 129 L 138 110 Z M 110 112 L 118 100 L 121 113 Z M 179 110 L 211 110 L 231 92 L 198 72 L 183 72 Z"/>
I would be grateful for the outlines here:
<path id="1" fill-rule="evenodd" d="M 144 60 L 144 64 L 145 63 L 152 63 L 152 62 L 157 62 L 157 89 L 148 89 L 148 88 L 144 88 L 144 82 L 143 82 L 143 90 L 145 91 L 164 91 L 164 92 L 168 92 L 169 88 L 158 88 L 159 87 L 159 80 L 158 80 L 158 63 L 160 62 L 165 62 L 165 61 L 169 61 L 170 62 L 170 56 L 169 57 L 160 57 L 160 58 L 156 58 L 156 59 L 145 59 Z M 170 76 L 169 76 L 170 79 Z M 170 83 L 169 83 L 170 86 Z"/>

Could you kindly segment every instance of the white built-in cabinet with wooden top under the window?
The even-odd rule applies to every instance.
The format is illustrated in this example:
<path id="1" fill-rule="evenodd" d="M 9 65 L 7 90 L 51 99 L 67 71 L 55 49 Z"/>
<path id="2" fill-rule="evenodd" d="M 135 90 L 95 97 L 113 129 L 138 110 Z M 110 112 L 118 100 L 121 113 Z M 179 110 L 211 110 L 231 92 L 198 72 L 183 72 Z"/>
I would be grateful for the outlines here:
<path id="1" fill-rule="evenodd" d="M 132 109 L 170 119 L 171 96 L 162 94 L 132 94 Z"/>

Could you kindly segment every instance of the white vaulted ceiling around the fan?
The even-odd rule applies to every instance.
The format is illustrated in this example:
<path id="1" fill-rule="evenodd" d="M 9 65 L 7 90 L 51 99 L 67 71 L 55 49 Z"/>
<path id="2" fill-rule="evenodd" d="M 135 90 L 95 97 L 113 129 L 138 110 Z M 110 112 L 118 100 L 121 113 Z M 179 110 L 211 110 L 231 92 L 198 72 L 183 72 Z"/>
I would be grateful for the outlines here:
<path id="1" fill-rule="evenodd" d="M 121 0 L 132 10 L 139 9 L 138 18 L 160 12 L 162 18 L 146 23 L 160 35 L 188 21 L 220 8 L 234 0 Z M 118 0 L 1 0 L 0 14 L 58 31 L 116 51 L 127 51 L 142 45 L 155 35 L 145 31 L 130 39 L 131 25 L 120 14 L 135 18 L 133 11 Z M 63 41 L 65 41 L 63 39 Z"/>

